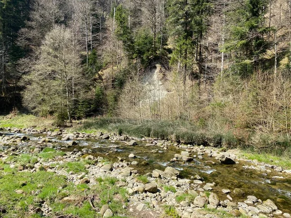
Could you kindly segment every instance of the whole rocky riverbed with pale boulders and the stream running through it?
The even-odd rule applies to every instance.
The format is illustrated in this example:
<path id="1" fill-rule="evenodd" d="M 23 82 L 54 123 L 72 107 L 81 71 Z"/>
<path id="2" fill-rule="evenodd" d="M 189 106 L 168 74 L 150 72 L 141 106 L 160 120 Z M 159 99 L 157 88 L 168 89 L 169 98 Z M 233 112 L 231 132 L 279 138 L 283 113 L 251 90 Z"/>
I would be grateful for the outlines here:
<path id="1" fill-rule="evenodd" d="M 155 139 L 132 139 L 114 134 L 50 132 L 47 130 L 1 129 L 0 157 L 31 154 L 46 148 L 62 151 L 62 156 L 38 158 L 17 171 L 45 171 L 65 175 L 75 185 L 97 184 L 96 178 L 116 178 L 115 185 L 125 187 L 132 217 L 290 218 L 291 171 L 280 166 L 238 159 L 236 151 L 179 145 Z M 66 171 L 64 163 L 88 160 L 86 172 Z M 21 192 L 21 190 L 16 190 Z M 62 201 L 74 201 L 66 196 Z M 98 214 L 113 216 L 104 204 Z M 165 208 L 175 208 L 170 216 Z M 43 215 L 50 216 L 49 202 L 43 202 Z"/>

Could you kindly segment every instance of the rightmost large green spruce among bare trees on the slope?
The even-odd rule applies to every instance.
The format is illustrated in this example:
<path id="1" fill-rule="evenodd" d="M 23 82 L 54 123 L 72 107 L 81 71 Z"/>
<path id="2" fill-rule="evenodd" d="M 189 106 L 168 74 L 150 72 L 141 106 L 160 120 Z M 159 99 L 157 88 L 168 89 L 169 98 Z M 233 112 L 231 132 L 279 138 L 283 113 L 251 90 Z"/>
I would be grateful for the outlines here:
<path id="1" fill-rule="evenodd" d="M 268 48 L 264 36 L 271 31 L 265 27 L 266 0 L 244 0 L 236 3 L 228 16 L 229 37 L 225 50 L 233 54 L 234 71 L 247 76 L 259 66 L 262 54 Z"/>

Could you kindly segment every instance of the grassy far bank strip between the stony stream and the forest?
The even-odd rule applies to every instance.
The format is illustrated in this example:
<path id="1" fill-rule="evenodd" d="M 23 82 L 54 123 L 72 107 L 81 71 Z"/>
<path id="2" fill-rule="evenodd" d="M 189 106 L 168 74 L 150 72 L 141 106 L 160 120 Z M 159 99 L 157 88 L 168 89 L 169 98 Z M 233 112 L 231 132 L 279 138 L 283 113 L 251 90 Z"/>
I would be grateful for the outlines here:
<path id="1" fill-rule="evenodd" d="M 7 116 L 0 116 L 0 127 L 16 127 L 16 128 L 29 128 L 34 127 L 36 129 L 47 129 L 50 131 L 59 130 L 60 128 L 53 125 L 54 119 L 53 117 L 50 118 L 42 118 L 42 117 L 35 117 L 33 115 L 15 115 L 15 114 L 9 114 Z M 148 126 L 141 127 L 140 125 L 133 125 L 132 123 L 124 123 L 118 119 L 114 118 L 96 118 L 96 119 L 87 119 L 83 121 L 73 122 L 71 126 L 69 127 L 62 127 L 61 129 L 65 129 L 68 132 L 84 132 L 84 133 L 94 133 L 98 131 L 102 131 L 105 133 L 116 133 L 116 134 L 127 134 L 131 137 L 136 138 L 143 138 L 144 136 L 147 136 L 147 138 L 157 138 L 162 140 L 177 140 L 177 138 L 180 138 L 185 141 L 185 139 L 189 138 L 196 138 L 196 140 L 201 144 L 204 144 L 206 146 L 219 146 L 222 147 L 223 150 L 228 149 L 238 149 L 240 152 L 237 154 L 243 159 L 249 159 L 254 162 L 259 163 L 266 163 L 266 164 L 273 164 L 277 166 L 281 166 L 287 169 L 291 169 L 291 152 L 289 153 L 289 150 L 291 150 L 291 146 L 289 145 L 289 149 L 285 149 L 284 151 L 280 149 L 279 145 L 277 146 L 277 149 L 266 149 L 264 147 L 260 147 L 259 149 L 254 149 L 253 146 L 246 146 L 246 145 L 240 145 L 236 139 L 234 139 L 231 135 L 227 135 L 224 137 L 224 140 L 222 140 L 222 136 L 217 135 L 217 138 L 212 139 L 212 143 L 209 142 L 209 140 L 202 139 L 203 137 L 197 136 L 197 133 L 193 133 L 191 131 L 186 133 L 179 133 L 178 137 L 170 136 L 171 132 L 169 129 L 165 127 L 165 125 L 171 125 L 171 124 L 164 124 L 162 126 L 157 125 L 155 129 L 151 129 Z M 177 126 L 172 126 L 170 129 L 178 129 Z M 179 131 L 183 132 L 185 128 L 181 128 Z M 190 136 L 188 136 L 190 135 Z M 199 140 L 200 139 L 200 140 Z M 207 142 L 206 142 L 207 140 Z M 187 142 L 187 141 L 186 141 Z M 187 143 L 185 143 L 187 144 Z M 193 143 L 190 143 L 193 144 Z M 197 143 L 194 143 L 197 144 Z"/>

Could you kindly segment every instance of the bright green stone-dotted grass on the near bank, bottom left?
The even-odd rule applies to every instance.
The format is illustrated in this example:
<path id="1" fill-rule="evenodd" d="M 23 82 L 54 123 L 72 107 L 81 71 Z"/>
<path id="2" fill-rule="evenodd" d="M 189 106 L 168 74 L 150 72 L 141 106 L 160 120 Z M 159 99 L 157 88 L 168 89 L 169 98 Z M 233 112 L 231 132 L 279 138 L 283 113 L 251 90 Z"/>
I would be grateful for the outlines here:
<path id="1" fill-rule="evenodd" d="M 46 149 L 44 154 L 53 153 Z M 7 162 L 14 161 L 16 165 L 31 164 L 36 156 L 23 154 L 12 156 Z M 33 161 L 32 161 L 33 162 Z M 63 167 L 67 171 L 84 171 L 85 161 L 65 163 Z M 42 202 L 47 202 L 52 208 L 52 217 L 66 216 L 74 218 L 96 218 L 99 215 L 88 202 L 88 196 L 96 196 L 94 205 L 101 208 L 109 204 L 114 218 L 126 218 L 128 194 L 125 188 L 115 186 L 118 180 L 114 177 L 99 178 L 98 184 L 88 186 L 87 184 L 74 185 L 68 182 L 65 176 L 57 175 L 47 171 L 24 172 L 10 168 L 8 163 L 0 162 L 0 207 L 6 212 L 1 214 L 3 218 L 26 217 L 41 218 L 41 214 L 30 212 L 33 208 L 41 207 Z M 61 187 L 61 188 L 60 188 Z M 23 193 L 16 193 L 22 190 Z M 61 200 L 64 197 L 77 196 L 79 203 Z"/>

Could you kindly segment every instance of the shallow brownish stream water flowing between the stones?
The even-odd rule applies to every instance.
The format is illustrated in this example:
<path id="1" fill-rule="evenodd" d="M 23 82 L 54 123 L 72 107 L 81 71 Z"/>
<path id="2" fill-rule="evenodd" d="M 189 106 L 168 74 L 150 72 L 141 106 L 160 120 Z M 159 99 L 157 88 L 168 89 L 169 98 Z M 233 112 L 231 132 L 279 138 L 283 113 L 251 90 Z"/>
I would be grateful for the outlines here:
<path id="1" fill-rule="evenodd" d="M 21 133 L 3 132 L 4 135 L 11 135 L 21 137 Z M 28 135 L 31 141 L 39 141 L 40 136 L 44 135 Z M 52 143 L 70 143 L 70 141 L 62 141 L 60 137 L 51 137 Z M 243 166 L 250 166 L 251 164 L 240 160 L 239 164 L 223 165 L 218 161 L 207 155 L 203 159 L 194 158 L 194 161 L 189 163 L 170 162 L 175 154 L 180 154 L 182 151 L 174 146 L 170 146 L 168 150 L 163 150 L 157 146 L 146 146 L 146 141 L 137 141 L 137 146 L 129 146 L 121 141 L 110 141 L 101 139 L 84 139 L 76 140 L 78 145 L 67 148 L 65 151 L 72 151 L 73 149 L 88 148 L 90 155 L 102 156 L 112 162 L 118 162 L 118 157 L 122 157 L 126 161 L 133 161 L 128 158 L 130 153 L 137 157 L 134 159 L 139 162 L 139 165 L 133 168 L 139 170 L 141 173 L 152 172 L 155 169 L 164 170 L 167 166 L 171 166 L 180 171 L 180 176 L 183 178 L 190 178 L 198 174 L 204 178 L 205 182 L 214 182 L 216 186 L 213 191 L 219 195 L 222 200 L 226 199 L 226 195 L 222 193 L 223 188 L 228 188 L 231 191 L 234 188 L 242 189 L 246 194 L 244 197 L 229 195 L 237 202 L 246 200 L 247 195 L 255 195 L 257 198 L 265 201 L 271 199 L 275 202 L 280 210 L 291 213 L 291 175 L 281 172 L 258 171 L 251 169 L 244 169 Z M 111 148 L 116 148 L 117 152 L 110 153 Z M 152 153 L 152 150 L 158 149 L 158 152 Z M 197 155 L 197 154 L 194 154 Z M 211 160 L 215 164 L 206 163 Z M 146 161 L 148 165 L 141 163 Z M 272 180 L 273 176 L 283 176 L 281 181 Z"/>

